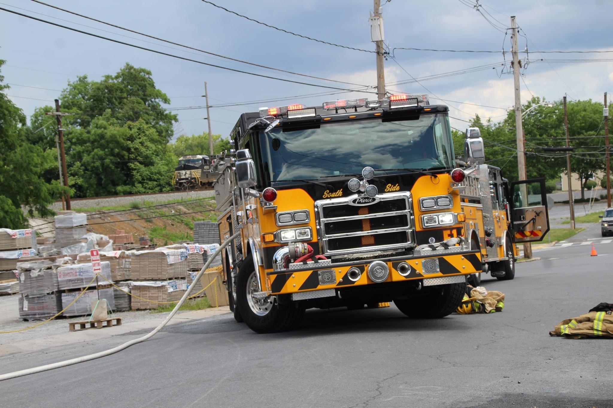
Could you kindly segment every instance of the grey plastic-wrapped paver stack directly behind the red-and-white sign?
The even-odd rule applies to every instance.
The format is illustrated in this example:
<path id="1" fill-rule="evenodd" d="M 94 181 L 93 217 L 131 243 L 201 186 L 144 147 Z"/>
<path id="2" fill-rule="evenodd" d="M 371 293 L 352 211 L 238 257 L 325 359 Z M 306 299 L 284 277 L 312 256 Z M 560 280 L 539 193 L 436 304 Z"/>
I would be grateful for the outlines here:
<path id="1" fill-rule="evenodd" d="M 63 291 L 61 294 L 62 308 L 67 308 L 64 311 L 64 316 L 89 314 L 92 311 L 92 302 L 96 302 L 98 299 L 106 299 L 109 310 L 115 310 L 113 288 L 109 283 L 112 282 L 110 262 L 104 261 L 100 265 L 98 284 L 96 284 L 96 280 L 93 280 L 96 274 L 91 262 L 58 268 L 58 288 Z M 79 297 L 83 289 L 88 286 L 89 289 Z M 72 303 L 75 299 L 77 299 L 76 302 Z"/>

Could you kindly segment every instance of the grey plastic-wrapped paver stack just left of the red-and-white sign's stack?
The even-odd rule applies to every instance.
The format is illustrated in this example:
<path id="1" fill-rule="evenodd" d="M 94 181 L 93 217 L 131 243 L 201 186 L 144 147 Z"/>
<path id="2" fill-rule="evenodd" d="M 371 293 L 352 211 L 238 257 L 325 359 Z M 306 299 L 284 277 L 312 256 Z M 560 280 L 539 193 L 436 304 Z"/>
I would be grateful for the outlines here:
<path id="1" fill-rule="evenodd" d="M 19 317 L 24 320 L 48 319 L 62 310 L 56 268 L 69 259 L 19 262 Z"/>

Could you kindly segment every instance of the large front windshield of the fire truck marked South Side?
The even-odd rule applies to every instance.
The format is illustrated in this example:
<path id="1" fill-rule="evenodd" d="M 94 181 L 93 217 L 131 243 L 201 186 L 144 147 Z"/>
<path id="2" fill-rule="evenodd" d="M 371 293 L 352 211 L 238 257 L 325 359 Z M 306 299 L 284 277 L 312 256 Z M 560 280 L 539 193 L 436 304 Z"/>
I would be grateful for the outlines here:
<path id="1" fill-rule="evenodd" d="M 381 119 L 322 124 L 320 128 L 261 132 L 267 179 L 318 179 L 374 169 L 440 169 L 454 166 L 449 118 Z"/>

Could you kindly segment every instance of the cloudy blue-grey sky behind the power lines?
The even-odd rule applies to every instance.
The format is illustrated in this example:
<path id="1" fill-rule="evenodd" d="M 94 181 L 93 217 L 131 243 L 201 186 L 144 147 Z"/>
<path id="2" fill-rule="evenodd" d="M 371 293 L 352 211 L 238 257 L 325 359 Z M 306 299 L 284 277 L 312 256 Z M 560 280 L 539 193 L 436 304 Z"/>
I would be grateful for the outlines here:
<path id="1" fill-rule="evenodd" d="M 181 46 L 152 40 L 96 21 L 52 9 L 34 1 L 2 0 L 0 7 L 47 21 L 103 35 L 177 56 L 235 70 L 272 76 L 262 78 L 210 67 L 197 62 L 138 50 L 130 46 L 30 20 L 0 10 L 0 59 L 6 91 L 26 115 L 38 106 L 53 105 L 58 90 L 77 75 L 99 80 L 116 73 L 126 62 L 153 73 L 156 86 L 169 95 L 166 108 L 203 106 L 207 81 L 210 105 L 289 98 L 284 102 L 250 103 L 210 109 L 211 130 L 227 137 L 240 113 L 262 106 L 290 103 L 321 105 L 337 98 L 367 97 L 374 93 L 342 92 L 376 86 L 375 54 L 328 45 L 277 31 L 238 17 L 201 0 L 47 0 L 48 4 L 93 17 L 123 28 L 154 35 L 181 45 L 241 59 L 276 69 L 318 76 L 338 83 L 297 76 L 229 61 Z M 375 50 L 368 17 L 373 2 L 337 0 L 308 2 L 212 0 L 249 18 L 296 34 L 360 50 Z M 532 95 L 558 100 L 603 101 L 613 91 L 613 52 L 538 53 L 538 51 L 613 51 L 609 35 L 613 2 L 608 0 L 381 0 L 384 32 L 390 55 L 385 61 L 386 89 L 392 93 L 429 94 L 432 103 L 449 106 L 452 127 L 463 130 L 475 114 L 493 121 L 506 116 L 514 105 L 510 16 L 520 27 L 522 102 Z M 472 5 L 472 6 L 471 6 Z M 396 48 L 394 50 L 394 48 Z M 399 50 L 484 50 L 495 53 L 460 53 Z M 504 53 L 502 51 L 505 51 Z M 393 57 L 392 57 L 393 56 Z M 611 61 L 585 61 L 585 59 Z M 543 61 L 543 59 L 545 61 Z M 552 61 L 552 60 L 565 61 Z M 580 61 L 569 62 L 570 59 Z M 526 62 L 528 62 L 526 64 Z M 423 77 L 449 72 L 475 72 L 434 79 Z M 417 78 L 418 82 L 412 80 Z M 299 81 L 297 84 L 275 78 Z M 422 78 L 422 79 L 420 79 Z M 402 83 L 402 81 L 413 83 Z M 400 84 L 395 84 L 401 82 Z M 316 84 L 327 87 L 316 87 Z M 311 95 L 315 96 L 299 96 Z M 333 94 L 333 95 L 324 95 Z M 439 98 L 439 99 L 436 99 Z M 443 99 L 443 100 L 440 100 Z M 60 101 L 61 103 L 61 101 Z M 485 105 L 485 106 L 476 106 Z M 176 111 L 180 122 L 175 137 L 207 130 L 204 108 Z"/>

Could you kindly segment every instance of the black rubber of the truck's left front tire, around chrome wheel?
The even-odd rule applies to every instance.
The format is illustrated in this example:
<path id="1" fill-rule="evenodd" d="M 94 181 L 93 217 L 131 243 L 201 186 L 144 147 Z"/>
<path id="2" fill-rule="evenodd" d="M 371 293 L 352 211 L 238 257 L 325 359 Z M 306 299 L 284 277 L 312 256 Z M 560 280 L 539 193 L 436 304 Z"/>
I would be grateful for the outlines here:
<path id="1" fill-rule="evenodd" d="M 284 332 L 294 328 L 304 314 L 304 309 L 295 303 L 279 305 L 275 299 L 272 299 L 266 305 L 266 310 L 262 312 L 265 314 L 256 314 L 251 308 L 247 297 L 247 286 L 254 273 L 256 272 L 253 256 L 249 254 L 238 269 L 236 281 L 238 311 L 245 324 L 256 333 Z"/>

